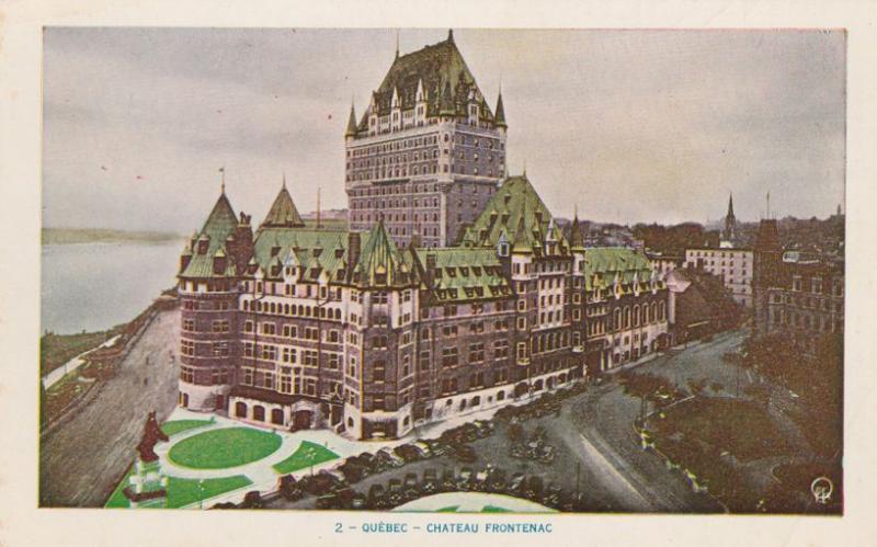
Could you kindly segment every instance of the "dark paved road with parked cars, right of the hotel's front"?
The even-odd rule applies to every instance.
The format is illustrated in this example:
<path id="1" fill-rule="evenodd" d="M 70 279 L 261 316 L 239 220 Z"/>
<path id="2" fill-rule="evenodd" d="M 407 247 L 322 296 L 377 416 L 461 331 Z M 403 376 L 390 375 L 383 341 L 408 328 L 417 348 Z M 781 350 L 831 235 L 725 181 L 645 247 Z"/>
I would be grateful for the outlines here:
<path id="1" fill-rule="evenodd" d="M 640 365 L 637 371 L 667 374 L 685 385 L 685 379 L 710 377 L 728 380 L 721 355 L 739 344 L 743 333 L 728 333 L 714 342 L 662 355 Z M 722 375 L 728 375 L 722 376 Z M 578 488 L 585 494 L 585 506 L 593 512 L 695 512 L 715 513 L 724 510 L 711 497 L 696 494 L 679 471 L 668 470 L 654 454 L 640 449 L 631 429 L 639 413 L 639 400 L 624 395 L 614 376 L 602 385 L 592 385 L 581 396 L 563 402 L 560 417 L 546 417 L 524 424 L 527 433 L 537 425 L 547 430 L 547 440 L 558 448 L 550 465 L 522 463 L 509 456 L 504 424 L 497 425 L 493 436 L 472 443 L 478 461 L 469 467 L 500 467 L 512 474 L 523 471 L 556 482 L 565 490 Z M 460 464 L 449 458 L 417 461 L 400 469 L 368 477 L 354 488 L 363 493 L 374 483 L 386 487 L 390 478 L 402 479 L 407 472 L 422 477 L 423 470 L 435 468 L 459 470 Z M 578 478 L 578 481 L 577 481 Z M 277 500 L 273 508 L 312 509 L 314 498 L 297 502 Z"/>

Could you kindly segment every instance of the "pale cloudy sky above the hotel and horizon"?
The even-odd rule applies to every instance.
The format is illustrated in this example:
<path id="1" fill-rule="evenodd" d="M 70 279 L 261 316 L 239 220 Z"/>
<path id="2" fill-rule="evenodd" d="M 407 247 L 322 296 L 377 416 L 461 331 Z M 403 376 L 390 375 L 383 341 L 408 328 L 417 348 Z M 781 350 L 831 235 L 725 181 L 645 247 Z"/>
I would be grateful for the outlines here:
<path id="1" fill-rule="evenodd" d="M 346 207 L 344 129 L 431 30 L 48 27 L 43 224 L 189 233 L 219 194 L 261 221 Z M 825 217 L 844 196 L 841 31 L 454 31 L 502 88 L 510 174 L 556 216 Z"/>

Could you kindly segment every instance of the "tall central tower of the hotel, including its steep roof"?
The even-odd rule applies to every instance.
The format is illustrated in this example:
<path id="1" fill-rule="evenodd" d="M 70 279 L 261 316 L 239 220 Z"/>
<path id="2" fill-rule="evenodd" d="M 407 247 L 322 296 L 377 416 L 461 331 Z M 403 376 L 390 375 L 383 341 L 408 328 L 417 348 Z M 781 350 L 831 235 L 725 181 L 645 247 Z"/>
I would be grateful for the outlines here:
<path id="1" fill-rule="evenodd" d="M 502 93 L 491 111 L 454 43 L 399 55 L 345 132 L 348 220 L 383 218 L 402 247 L 453 244 L 497 191 L 505 171 Z"/>

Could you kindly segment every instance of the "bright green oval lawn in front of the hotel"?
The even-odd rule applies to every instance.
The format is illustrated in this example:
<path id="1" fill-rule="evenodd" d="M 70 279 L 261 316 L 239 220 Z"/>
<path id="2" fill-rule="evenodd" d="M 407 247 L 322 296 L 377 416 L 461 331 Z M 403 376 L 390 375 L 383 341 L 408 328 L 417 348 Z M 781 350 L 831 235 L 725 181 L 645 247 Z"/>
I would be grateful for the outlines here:
<path id="1" fill-rule="evenodd" d="M 276 433 L 250 428 L 205 431 L 173 445 L 168 457 L 193 469 L 225 469 L 257 461 L 281 447 Z"/>

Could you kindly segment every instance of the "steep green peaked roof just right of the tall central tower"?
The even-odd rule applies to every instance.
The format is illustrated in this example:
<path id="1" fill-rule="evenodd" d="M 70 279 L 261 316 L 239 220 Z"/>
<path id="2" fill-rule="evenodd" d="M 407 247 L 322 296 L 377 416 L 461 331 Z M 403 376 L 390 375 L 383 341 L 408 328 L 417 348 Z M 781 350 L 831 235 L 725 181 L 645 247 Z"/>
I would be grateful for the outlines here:
<path id="1" fill-rule="evenodd" d="M 462 244 L 496 248 L 503 233 L 512 252 L 544 254 L 547 241 L 555 243 L 555 254 L 569 254 L 569 242 L 526 175 L 505 179 L 466 229 Z"/>

